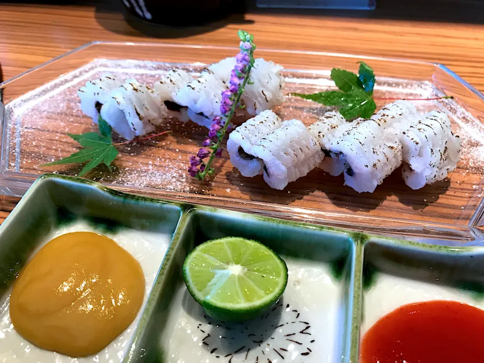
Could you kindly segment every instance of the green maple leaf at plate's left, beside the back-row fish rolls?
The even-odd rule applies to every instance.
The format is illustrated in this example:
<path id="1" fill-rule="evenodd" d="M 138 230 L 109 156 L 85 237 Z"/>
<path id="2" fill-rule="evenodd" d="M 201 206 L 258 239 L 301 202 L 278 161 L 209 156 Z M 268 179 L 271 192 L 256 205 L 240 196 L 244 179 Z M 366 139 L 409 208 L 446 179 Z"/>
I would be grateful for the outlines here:
<path id="1" fill-rule="evenodd" d="M 88 173 L 100 163 L 104 163 L 110 169 L 111 163 L 119 152 L 112 144 L 111 127 L 101 116 L 99 116 L 99 132 L 100 134 L 93 132 L 85 134 L 68 134 L 85 149 L 75 152 L 64 159 L 40 166 L 77 164 L 88 161 L 88 163 L 82 168 L 79 176 Z"/>

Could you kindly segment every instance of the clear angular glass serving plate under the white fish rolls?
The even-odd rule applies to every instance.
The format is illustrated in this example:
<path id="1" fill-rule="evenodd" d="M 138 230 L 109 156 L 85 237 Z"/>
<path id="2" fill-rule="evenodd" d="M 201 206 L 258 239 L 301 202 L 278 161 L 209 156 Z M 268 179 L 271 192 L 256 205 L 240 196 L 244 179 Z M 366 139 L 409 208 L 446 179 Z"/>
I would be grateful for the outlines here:
<path id="1" fill-rule="evenodd" d="M 95 130 L 80 110 L 77 90 L 105 73 L 152 84 L 172 68 L 194 74 L 204 65 L 233 56 L 237 48 L 149 43 L 90 43 L 0 84 L 5 104 L 2 117 L 0 192 L 22 196 L 42 173 L 77 175 L 80 165 L 39 165 L 78 150 L 66 133 Z M 421 110 L 439 109 L 451 118 L 462 139 L 461 161 L 449 176 L 413 191 L 400 170 L 374 193 L 358 194 L 343 185 L 343 177 L 320 169 L 290 183 L 284 191 L 269 188 L 262 176 L 246 178 L 232 167 L 227 153 L 215 163 L 213 181 L 187 173 L 207 129 L 191 122 L 167 120 L 159 131 L 168 135 L 119 147 L 114 171 L 98 167 L 87 176 L 112 188 L 167 199 L 220 206 L 286 219 L 346 226 L 381 234 L 422 236 L 455 243 L 478 243 L 482 233 L 484 193 L 484 97 L 448 68 L 402 59 L 308 51 L 257 49 L 284 66 L 284 93 L 310 93 L 334 88 L 331 68 L 356 71 L 365 61 L 377 75 L 376 98 L 454 99 L 414 101 Z M 378 107 L 389 103 L 377 101 Z M 313 123 L 329 108 L 288 97 L 275 109 L 283 118 Z"/>

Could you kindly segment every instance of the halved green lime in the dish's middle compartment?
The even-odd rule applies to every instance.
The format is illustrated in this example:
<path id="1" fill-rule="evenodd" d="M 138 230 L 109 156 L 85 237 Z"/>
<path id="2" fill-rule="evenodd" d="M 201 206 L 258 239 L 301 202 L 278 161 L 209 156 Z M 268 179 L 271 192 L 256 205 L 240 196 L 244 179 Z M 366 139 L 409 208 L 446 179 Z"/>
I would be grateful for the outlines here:
<path id="1" fill-rule="evenodd" d="M 243 321 L 260 315 L 282 295 L 287 266 L 257 241 L 225 237 L 195 248 L 185 259 L 183 278 L 209 316 Z"/>

